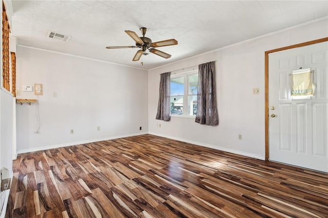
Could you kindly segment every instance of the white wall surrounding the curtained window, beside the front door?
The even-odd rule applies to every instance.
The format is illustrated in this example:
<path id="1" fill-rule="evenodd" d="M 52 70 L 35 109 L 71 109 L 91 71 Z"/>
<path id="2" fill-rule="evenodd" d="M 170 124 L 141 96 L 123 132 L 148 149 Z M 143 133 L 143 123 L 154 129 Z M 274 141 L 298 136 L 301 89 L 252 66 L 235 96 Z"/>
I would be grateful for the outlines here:
<path id="1" fill-rule="evenodd" d="M 264 52 L 323 37 L 328 37 L 327 19 L 150 70 L 149 132 L 264 159 Z M 156 120 L 159 74 L 213 60 L 219 125 L 200 125 L 180 117 Z M 259 88 L 259 94 L 253 95 L 252 88 Z"/>

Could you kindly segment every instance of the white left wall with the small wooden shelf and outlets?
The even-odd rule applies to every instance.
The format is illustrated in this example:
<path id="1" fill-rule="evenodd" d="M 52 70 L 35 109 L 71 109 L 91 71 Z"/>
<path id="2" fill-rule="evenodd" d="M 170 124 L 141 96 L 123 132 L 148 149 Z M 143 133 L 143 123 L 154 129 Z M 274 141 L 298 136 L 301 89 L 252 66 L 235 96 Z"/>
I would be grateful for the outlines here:
<path id="1" fill-rule="evenodd" d="M 22 85 L 43 84 L 40 134 L 34 133 L 37 104 L 16 105 L 18 152 L 148 132 L 147 71 L 21 46 L 16 51 L 16 98 L 36 99 Z"/>

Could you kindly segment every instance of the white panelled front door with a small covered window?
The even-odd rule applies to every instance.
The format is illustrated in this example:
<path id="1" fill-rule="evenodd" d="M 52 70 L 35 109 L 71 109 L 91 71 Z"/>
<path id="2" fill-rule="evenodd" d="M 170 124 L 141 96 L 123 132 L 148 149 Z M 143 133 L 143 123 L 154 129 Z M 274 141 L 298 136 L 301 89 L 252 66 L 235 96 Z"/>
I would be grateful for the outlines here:
<path id="1" fill-rule="evenodd" d="M 291 97 L 291 74 L 300 68 L 314 71 L 310 99 Z M 328 42 L 269 54 L 270 160 L 328 172 L 327 84 Z"/>

